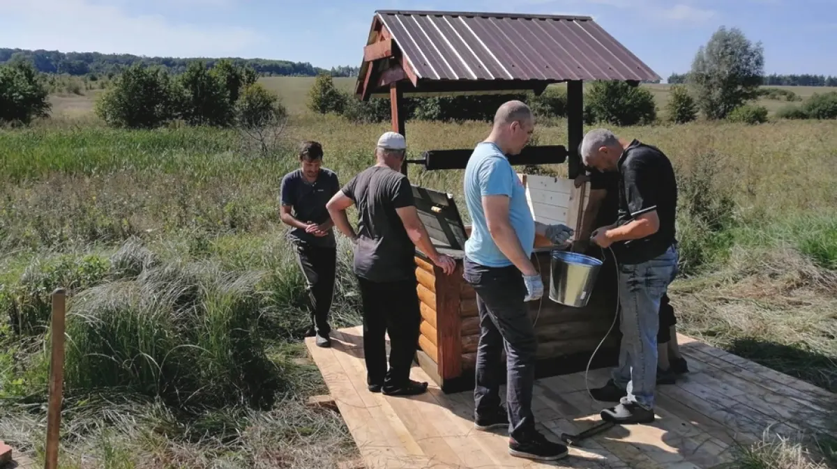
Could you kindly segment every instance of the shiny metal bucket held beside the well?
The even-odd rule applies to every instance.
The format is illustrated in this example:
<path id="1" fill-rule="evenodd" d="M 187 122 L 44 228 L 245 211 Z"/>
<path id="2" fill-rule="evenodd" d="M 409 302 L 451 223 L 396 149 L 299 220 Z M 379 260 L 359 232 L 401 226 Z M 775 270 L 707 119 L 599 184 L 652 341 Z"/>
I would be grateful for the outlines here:
<path id="1" fill-rule="evenodd" d="M 578 252 L 552 251 L 549 299 L 555 303 L 583 308 L 596 284 L 602 261 Z"/>

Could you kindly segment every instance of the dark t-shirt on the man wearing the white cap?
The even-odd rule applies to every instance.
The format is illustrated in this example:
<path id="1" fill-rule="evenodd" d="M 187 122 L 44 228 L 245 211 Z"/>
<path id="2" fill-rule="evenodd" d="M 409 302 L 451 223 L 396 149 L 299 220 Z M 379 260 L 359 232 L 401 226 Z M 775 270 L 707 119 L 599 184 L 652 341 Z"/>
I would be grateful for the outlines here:
<path id="1" fill-rule="evenodd" d="M 354 272 L 372 282 L 415 278 L 415 245 L 396 208 L 412 206 L 407 176 L 385 166 L 372 166 L 342 189 L 359 213 Z"/>

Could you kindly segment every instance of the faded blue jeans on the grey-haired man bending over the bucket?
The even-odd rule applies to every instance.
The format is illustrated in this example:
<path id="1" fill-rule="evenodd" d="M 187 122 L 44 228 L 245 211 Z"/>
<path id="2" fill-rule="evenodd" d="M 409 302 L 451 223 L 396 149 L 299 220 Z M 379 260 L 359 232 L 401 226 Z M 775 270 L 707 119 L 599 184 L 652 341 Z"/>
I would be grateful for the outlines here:
<path id="1" fill-rule="evenodd" d="M 677 257 L 672 246 L 650 261 L 619 264 L 622 344 L 612 377 L 615 385 L 628 391 L 623 403 L 654 407 L 660 299 L 677 274 Z"/>

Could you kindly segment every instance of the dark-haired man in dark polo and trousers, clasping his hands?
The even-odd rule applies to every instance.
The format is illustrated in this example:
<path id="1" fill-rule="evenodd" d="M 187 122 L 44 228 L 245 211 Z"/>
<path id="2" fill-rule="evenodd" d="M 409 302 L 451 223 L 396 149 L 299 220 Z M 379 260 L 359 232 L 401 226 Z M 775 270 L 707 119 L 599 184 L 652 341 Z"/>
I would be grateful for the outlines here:
<path id="1" fill-rule="evenodd" d="M 296 250 L 296 258 L 306 278 L 311 329 L 316 344 L 331 345 L 328 312 L 334 292 L 336 242 L 326 202 L 340 190 L 337 175 L 322 166 L 322 146 L 316 141 L 303 142 L 300 147 L 300 169 L 282 178 L 282 222 L 293 227 L 288 233 Z M 293 210 L 293 213 L 291 212 Z"/>

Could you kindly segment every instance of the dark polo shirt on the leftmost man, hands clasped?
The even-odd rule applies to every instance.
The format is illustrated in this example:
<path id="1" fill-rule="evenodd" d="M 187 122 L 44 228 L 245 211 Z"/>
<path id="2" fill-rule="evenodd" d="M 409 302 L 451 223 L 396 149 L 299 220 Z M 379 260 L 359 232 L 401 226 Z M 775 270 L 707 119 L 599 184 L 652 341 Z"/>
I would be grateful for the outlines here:
<path id="1" fill-rule="evenodd" d="M 300 222 L 320 224 L 330 218 L 326 203 L 340 190 L 340 181 L 334 171 L 320 168 L 316 181 L 308 182 L 302 170 L 290 171 L 282 178 L 281 203 L 291 206 L 291 214 Z M 292 228 L 289 237 L 320 247 L 335 247 L 334 229 L 324 237 L 316 237 L 300 228 Z"/>

